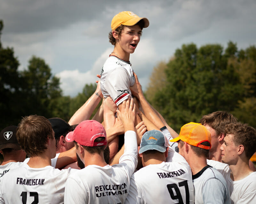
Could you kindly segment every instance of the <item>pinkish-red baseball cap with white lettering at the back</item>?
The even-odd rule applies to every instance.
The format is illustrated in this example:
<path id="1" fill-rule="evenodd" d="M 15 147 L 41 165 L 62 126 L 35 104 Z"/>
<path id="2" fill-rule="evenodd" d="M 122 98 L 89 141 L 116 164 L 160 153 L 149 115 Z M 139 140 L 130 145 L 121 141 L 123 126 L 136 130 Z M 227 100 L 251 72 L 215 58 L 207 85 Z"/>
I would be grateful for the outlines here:
<path id="1" fill-rule="evenodd" d="M 107 145 L 105 128 L 96 120 L 84 120 L 76 126 L 75 130 L 66 136 L 67 142 L 76 141 L 78 144 L 87 147 Z M 105 137 L 105 140 L 94 142 L 98 137 Z"/>

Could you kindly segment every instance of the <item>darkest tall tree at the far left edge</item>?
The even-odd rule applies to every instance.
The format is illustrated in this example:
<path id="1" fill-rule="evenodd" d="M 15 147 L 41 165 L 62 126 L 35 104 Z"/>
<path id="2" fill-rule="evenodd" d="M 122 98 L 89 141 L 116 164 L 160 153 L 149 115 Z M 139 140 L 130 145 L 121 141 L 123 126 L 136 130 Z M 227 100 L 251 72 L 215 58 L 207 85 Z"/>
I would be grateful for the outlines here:
<path id="1" fill-rule="evenodd" d="M 0 34 L 3 29 L 0 20 Z M 1 35 L 0 35 L 1 37 Z M 18 125 L 24 113 L 26 96 L 22 92 L 24 79 L 18 72 L 19 61 L 12 48 L 3 48 L 0 42 L 0 127 Z"/>

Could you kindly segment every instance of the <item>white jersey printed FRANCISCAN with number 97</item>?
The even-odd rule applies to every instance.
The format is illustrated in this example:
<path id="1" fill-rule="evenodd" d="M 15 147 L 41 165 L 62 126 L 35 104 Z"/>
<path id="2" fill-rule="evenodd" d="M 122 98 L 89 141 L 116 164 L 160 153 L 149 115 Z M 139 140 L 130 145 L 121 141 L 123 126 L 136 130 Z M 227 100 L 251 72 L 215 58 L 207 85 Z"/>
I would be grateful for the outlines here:
<path id="1" fill-rule="evenodd" d="M 169 147 L 166 162 L 136 171 L 125 203 L 194 203 L 194 186 L 187 161 Z"/>

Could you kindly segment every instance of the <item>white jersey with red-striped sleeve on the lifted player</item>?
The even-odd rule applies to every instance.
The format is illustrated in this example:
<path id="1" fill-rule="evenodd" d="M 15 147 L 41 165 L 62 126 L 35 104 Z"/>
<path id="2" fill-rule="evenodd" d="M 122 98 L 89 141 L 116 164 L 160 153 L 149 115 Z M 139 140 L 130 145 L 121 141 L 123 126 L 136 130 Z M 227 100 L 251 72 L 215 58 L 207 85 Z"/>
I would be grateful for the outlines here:
<path id="1" fill-rule="evenodd" d="M 116 56 L 109 56 L 102 67 L 100 88 L 103 96 L 110 96 L 118 106 L 131 94 L 134 85 L 132 65 Z"/>

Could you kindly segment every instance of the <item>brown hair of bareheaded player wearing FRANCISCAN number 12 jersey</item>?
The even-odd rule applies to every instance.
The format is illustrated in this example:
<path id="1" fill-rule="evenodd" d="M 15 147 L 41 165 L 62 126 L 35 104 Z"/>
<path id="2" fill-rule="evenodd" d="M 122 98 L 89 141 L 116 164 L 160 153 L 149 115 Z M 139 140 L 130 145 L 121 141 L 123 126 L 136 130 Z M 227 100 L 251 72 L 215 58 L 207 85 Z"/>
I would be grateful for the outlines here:
<path id="1" fill-rule="evenodd" d="M 28 156 L 37 156 L 47 149 L 48 138 L 53 138 L 52 125 L 44 116 L 26 116 L 21 119 L 16 136 Z"/>

